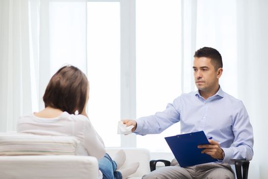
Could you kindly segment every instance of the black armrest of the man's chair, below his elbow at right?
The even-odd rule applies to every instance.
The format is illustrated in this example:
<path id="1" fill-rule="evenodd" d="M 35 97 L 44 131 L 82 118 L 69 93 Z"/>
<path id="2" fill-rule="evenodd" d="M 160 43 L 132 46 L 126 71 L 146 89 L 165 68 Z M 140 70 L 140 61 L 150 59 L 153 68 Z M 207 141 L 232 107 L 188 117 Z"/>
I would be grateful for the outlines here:
<path id="1" fill-rule="evenodd" d="M 250 162 L 246 160 L 235 160 L 234 165 L 237 179 L 247 179 Z"/>

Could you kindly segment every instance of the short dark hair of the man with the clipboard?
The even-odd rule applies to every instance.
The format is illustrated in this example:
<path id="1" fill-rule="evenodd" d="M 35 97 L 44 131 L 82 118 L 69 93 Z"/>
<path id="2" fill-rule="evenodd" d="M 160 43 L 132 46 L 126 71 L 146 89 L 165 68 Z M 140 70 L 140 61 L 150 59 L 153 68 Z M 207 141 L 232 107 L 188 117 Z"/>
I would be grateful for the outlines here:
<path id="1" fill-rule="evenodd" d="M 211 63 L 214 66 L 215 70 L 218 70 L 219 68 L 223 68 L 223 60 L 222 55 L 213 48 L 210 47 L 203 47 L 199 50 L 197 50 L 194 53 L 194 58 L 200 58 L 200 57 L 207 57 L 211 59 Z"/>

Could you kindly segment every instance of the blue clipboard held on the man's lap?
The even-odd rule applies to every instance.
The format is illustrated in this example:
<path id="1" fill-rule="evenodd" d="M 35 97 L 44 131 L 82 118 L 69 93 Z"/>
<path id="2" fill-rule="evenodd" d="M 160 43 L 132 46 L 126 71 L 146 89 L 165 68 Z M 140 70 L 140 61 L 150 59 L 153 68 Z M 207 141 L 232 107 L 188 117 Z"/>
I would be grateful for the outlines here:
<path id="1" fill-rule="evenodd" d="M 204 149 L 197 148 L 198 145 L 209 144 L 203 130 L 166 137 L 165 140 L 181 167 L 217 161 L 210 155 L 201 153 Z"/>

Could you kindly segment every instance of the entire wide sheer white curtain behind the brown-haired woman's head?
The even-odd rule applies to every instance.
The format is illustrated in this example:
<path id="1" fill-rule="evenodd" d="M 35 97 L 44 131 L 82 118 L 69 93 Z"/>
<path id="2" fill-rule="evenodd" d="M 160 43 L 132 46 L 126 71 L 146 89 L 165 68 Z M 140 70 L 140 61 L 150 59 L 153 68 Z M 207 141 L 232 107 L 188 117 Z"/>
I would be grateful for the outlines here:
<path id="1" fill-rule="evenodd" d="M 0 131 L 43 108 L 44 89 L 62 65 L 86 73 L 86 2 L 0 1 Z"/>

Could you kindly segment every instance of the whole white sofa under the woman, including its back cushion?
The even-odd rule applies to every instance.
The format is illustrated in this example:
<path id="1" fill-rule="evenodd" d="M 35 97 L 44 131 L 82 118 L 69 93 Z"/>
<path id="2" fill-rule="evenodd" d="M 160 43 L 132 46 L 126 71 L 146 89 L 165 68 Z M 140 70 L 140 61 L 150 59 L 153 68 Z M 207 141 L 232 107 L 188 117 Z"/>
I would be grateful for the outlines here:
<path id="1" fill-rule="evenodd" d="M 76 155 L 79 141 L 68 136 L 39 136 L 27 133 L 0 133 L 0 179 L 98 178 L 98 160 Z M 141 148 L 106 148 L 112 158 L 119 150 L 126 152 L 122 168 L 139 162 L 129 178 L 141 178 L 150 172 L 150 152 Z"/>

